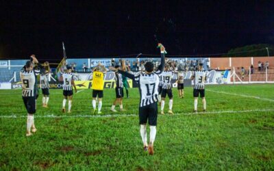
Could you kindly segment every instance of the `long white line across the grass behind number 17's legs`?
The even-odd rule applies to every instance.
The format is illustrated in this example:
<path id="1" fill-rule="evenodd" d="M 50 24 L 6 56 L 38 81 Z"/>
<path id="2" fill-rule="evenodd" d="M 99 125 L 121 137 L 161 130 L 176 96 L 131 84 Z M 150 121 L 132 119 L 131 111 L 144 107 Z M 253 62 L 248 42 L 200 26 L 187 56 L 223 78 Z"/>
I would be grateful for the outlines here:
<path id="1" fill-rule="evenodd" d="M 249 113 L 249 112 L 266 112 L 266 111 L 274 111 L 274 109 L 251 109 L 251 110 L 242 110 L 242 111 L 234 111 L 234 110 L 227 110 L 227 111 L 206 111 L 206 112 L 198 112 L 198 113 L 177 113 L 174 114 L 175 116 L 180 115 L 197 115 L 197 114 L 241 114 L 241 113 Z M 112 117 L 127 117 L 127 116 L 138 116 L 138 114 L 113 114 L 113 115 L 60 115 L 55 116 L 54 114 L 51 115 L 35 115 L 34 118 L 112 118 Z M 167 115 L 166 115 L 167 116 Z M 0 116 L 0 118 L 27 118 L 27 116 L 16 116 L 16 115 L 5 115 Z"/>

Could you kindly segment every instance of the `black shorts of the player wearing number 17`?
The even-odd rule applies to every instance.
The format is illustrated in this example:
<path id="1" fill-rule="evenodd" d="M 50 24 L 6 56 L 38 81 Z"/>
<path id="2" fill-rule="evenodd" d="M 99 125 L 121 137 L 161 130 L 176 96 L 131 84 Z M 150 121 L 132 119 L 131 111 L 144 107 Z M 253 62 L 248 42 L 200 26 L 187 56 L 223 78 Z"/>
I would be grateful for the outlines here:
<path id="1" fill-rule="evenodd" d="M 157 125 L 158 105 L 151 103 L 143 107 L 139 107 L 139 124 L 146 124 L 149 119 L 149 125 Z"/>

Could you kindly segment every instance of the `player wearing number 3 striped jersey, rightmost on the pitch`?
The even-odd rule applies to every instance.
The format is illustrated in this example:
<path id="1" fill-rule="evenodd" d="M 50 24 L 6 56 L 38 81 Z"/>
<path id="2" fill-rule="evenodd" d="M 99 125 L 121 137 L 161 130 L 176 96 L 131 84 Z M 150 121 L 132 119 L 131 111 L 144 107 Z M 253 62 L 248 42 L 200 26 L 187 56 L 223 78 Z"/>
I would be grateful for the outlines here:
<path id="1" fill-rule="evenodd" d="M 197 113 L 198 97 L 202 98 L 203 111 L 206 111 L 206 98 L 205 98 L 205 81 L 206 81 L 206 71 L 203 70 L 203 62 L 199 62 L 199 68 L 192 75 L 191 79 L 194 79 L 194 112 Z"/>

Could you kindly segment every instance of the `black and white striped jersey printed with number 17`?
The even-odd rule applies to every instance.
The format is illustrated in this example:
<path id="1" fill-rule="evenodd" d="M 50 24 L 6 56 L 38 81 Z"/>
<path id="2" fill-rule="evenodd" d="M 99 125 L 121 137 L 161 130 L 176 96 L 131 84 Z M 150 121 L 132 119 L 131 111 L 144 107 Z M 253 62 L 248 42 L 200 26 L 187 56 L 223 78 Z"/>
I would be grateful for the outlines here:
<path id="1" fill-rule="evenodd" d="M 158 102 L 159 75 L 156 73 L 137 73 L 134 81 L 139 83 L 140 107 Z"/>

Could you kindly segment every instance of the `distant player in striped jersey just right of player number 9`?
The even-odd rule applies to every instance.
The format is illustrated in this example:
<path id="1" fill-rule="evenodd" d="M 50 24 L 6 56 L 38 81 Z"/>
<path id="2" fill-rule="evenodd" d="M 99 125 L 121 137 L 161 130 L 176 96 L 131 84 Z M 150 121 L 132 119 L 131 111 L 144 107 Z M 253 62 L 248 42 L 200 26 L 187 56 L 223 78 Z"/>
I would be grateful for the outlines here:
<path id="1" fill-rule="evenodd" d="M 49 103 L 49 72 L 42 68 L 42 73 L 40 75 L 40 86 L 42 89 L 42 107 L 48 107 Z"/>

